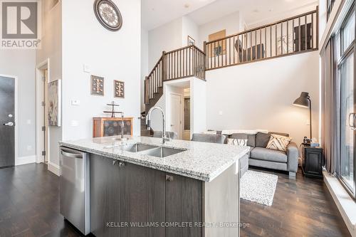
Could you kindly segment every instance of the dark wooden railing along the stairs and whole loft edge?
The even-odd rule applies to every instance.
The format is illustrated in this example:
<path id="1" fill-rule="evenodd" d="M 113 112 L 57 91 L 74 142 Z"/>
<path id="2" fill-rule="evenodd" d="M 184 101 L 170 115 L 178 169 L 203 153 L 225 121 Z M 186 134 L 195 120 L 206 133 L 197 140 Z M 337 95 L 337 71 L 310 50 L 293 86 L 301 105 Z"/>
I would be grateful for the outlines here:
<path id="1" fill-rule="evenodd" d="M 314 11 L 204 42 L 204 51 L 187 46 L 162 52 L 145 78 L 145 112 L 163 95 L 163 83 L 196 77 L 208 70 L 318 50 L 318 6 Z"/>

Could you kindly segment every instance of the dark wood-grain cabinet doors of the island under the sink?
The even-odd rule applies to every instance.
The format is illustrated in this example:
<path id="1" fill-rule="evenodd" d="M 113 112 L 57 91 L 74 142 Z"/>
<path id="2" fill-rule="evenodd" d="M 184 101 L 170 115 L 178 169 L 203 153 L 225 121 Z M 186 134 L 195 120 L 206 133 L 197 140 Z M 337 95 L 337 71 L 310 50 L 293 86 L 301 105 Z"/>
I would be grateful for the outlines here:
<path id="1" fill-rule="evenodd" d="M 95 236 L 200 237 L 202 181 L 90 154 L 90 228 Z M 129 226 L 122 226 L 122 224 Z M 132 223 L 141 226 L 131 226 Z M 142 226 L 158 223 L 159 226 Z"/>

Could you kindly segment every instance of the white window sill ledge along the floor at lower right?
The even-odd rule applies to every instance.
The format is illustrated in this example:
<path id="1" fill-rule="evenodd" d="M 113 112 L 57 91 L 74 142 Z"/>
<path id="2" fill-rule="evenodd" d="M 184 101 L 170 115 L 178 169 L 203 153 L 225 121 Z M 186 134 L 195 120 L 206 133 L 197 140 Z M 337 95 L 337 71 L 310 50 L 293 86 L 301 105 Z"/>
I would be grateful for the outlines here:
<path id="1" fill-rule="evenodd" d="M 351 236 L 356 237 L 356 202 L 347 194 L 347 191 L 336 177 L 329 175 L 325 171 L 323 175 L 325 184 L 331 196 L 333 196 L 337 209 L 339 209 Z"/>

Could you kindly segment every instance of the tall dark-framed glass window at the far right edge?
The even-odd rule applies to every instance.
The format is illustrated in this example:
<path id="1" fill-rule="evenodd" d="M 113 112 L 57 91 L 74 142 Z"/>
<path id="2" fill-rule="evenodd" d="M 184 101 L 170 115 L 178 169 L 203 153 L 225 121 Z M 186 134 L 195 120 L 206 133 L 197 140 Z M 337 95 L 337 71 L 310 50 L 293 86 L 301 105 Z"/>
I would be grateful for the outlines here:
<path id="1" fill-rule="evenodd" d="M 335 37 L 340 78 L 340 161 L 337 177 L 355 199 L 356 164 L 356 80 L 355 7 Z"/>

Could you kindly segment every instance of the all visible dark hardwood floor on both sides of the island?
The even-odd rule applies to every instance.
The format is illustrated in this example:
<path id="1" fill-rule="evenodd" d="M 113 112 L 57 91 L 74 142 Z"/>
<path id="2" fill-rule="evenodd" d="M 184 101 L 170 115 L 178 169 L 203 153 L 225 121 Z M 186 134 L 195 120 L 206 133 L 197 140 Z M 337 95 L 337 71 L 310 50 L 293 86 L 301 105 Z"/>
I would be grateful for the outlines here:
<path id="1" fill-rule="evenodd" d="M 241 222 L 249 224 L 241 236 L 350 236 L 322 180 L 276 174 L 272 206 L 241 200 Z M 46 164 L 0 169 L 3 236 L 80 236 L 59 214 L 58 177 Z"/>

